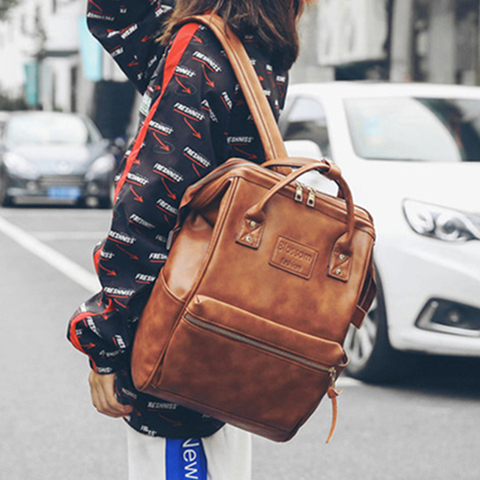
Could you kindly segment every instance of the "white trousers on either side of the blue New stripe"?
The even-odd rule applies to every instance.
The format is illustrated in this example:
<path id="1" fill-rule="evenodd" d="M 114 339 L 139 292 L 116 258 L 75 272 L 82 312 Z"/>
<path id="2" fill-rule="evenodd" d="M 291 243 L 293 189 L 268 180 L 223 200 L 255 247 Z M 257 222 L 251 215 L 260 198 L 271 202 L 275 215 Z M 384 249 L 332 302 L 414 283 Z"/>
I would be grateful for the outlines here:
<path id="1" fill-rule="evenodd" d="M 167 478 L 167 440 L 128 429 L 128 480 L 170 480 Z M 252 440 L 248 432 L 225 425 L 201 439 L 207 459 L 208 480 L 251 480 Z M 188 453 L 193 455 L 193 453 Z M 185 472 L 177 478 L 197 478 Z M 190 475 L 189 475 L 190 473 Z"/>

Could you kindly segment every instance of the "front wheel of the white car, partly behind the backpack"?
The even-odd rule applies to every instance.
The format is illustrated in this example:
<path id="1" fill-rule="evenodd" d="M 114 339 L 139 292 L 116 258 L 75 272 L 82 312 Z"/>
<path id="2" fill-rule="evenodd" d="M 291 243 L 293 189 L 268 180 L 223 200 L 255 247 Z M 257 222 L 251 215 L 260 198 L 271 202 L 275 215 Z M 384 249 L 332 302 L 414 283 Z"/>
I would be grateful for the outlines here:
<path id="1" fill-rule="evenodd" d="M 385 297 L 377 275 L 377 296 L 360 329 L 353 325 L 345 339 L 349 376 L 371 383 L 398 380 L 411 373 L 413 358 L 394 350 L 388 340 Z"/>

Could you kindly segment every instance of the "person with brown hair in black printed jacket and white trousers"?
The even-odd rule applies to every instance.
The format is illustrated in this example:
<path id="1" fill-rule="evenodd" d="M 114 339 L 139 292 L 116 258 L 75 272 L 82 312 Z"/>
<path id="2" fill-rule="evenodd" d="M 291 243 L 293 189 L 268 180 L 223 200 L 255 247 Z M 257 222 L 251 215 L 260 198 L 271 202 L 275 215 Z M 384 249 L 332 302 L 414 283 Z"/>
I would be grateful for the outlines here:
<path id="1" fill-rule="evenodd" d="M 278 119 L 287 72 L 298 54 L 302 3 L 89 1 L 90 30 L 143 94 L 140 125 L 162 94 L 145 138 L 132 147 L 130 160 L 126 153 L 119 170 L 111 229 L 94 253 L 102 290 L 75 312 L 68 331 L 73 345 L 89 356 L 94 406 L 132 427 L 130 479 L 177 478 L 177 467 L 197 478 L 192 472 L 200 475 L 205 454 L 213 480 L 248 479 L 251 469 L 247 433 L 137 392 L 130 377 L 136 323 L 165 262 L 185 189 L 229 158 L 264 161 L 243 94 L 213 33 L 198 26 L 165 88 L 164 50 L 173 50 L 168 46 L 185 17 L 217 13 L 242 39 Z"/>

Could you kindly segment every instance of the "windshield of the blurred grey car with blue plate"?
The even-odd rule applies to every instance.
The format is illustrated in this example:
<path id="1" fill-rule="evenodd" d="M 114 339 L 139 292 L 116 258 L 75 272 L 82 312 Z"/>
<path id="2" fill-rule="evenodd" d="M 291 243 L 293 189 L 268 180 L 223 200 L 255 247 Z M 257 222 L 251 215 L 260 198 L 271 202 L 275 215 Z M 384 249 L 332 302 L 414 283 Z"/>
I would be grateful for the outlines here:
<path id="1" fill-rule="evenodd" d="M 75 115 L 26 113 L 12 116 L 6 129 L 6 141 L 13 145 L 85 145 L 100 141 L 100 134 Z"/>

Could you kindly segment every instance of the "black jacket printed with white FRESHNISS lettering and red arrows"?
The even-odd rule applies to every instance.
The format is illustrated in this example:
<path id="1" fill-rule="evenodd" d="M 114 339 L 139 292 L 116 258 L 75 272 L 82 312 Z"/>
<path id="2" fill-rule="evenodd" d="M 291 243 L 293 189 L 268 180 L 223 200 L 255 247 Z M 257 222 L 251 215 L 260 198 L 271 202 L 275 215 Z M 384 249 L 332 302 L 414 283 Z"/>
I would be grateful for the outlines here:
<path id="1" fill-rule="evenodd" d="M 155 41 L 174 0 L 89 0 L 92 34 L 143 94 L 140 122 L 162 88 L 164 48 Z M 286 72 L 276 71 L 255 36 L 244 45 L 276 118 Z M 168 49 L 167 49 L 168 50 Z M 139 127 L 139 128 L 140 128 Z M 125 171 L 124 161 L 117 178 Z M 222 47 L 199 26 L 126 172 L 110 231 L 94 251 L 102 290 L 70 319 L 68 338 L 91 367 L 116 373 L 116 394 L 133 406 L 126 421 L 137 431 L 170 438 L 203 437 L 222 423 L 135 390 L 129 359 L 136 325 L 168 255 L 166 240 L 186 188 L 229 158 L 265 161 L 243 94 Z"/>

